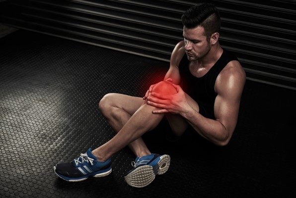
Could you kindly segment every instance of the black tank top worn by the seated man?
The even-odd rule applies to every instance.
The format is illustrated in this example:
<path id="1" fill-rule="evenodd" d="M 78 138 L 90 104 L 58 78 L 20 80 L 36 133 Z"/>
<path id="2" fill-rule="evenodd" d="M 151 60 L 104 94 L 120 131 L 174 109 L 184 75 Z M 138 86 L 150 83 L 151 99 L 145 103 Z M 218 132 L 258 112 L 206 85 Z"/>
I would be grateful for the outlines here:
<path id="1" fill-rule="evenodd" d="M 214 90 L 217 76 L 230 61 L 238 59 L 231 52 L 223 49 L 222 56 L 215 65 L 203 76 L 197 78 L 189 71 L 189 60 L 184 54 L 180 64 L 179 72 L 181 76 L 180 86 L 192 99 L 197 101 L 200 113 L 205 117 L 215 119 L 214 102 L 217 93 Z"/>

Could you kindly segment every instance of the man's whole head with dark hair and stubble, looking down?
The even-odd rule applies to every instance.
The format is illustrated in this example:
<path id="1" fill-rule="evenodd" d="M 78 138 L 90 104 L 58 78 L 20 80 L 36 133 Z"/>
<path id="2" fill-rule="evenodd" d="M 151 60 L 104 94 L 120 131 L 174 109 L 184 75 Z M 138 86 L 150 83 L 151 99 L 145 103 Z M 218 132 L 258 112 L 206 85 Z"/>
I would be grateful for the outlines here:
<path id="1" fill-rule="evenodd" d="M 213 46 L 219 45 L 221 19 L 211 3 L 190 7 L 182 15 L 185 52 L 189 61 L 206 57 Z"/>

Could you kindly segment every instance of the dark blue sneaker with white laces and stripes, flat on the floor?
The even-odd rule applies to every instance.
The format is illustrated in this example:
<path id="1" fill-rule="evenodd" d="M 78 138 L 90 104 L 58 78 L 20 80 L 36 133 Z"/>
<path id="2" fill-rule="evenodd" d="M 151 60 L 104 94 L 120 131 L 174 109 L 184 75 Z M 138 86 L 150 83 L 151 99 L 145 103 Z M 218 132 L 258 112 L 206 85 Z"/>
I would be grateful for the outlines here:
<path id="1" fill-rule="evenodd" d="M 69 182 L 80 182 L 88 177 L 104 177 L 112 172 L 111 159 L 106 162 L 99 162 L 97 158 L 88 149 L 85 154 L 72 162 L 60 163 L 54 166 L 55 173 L 63 180 Z"/>

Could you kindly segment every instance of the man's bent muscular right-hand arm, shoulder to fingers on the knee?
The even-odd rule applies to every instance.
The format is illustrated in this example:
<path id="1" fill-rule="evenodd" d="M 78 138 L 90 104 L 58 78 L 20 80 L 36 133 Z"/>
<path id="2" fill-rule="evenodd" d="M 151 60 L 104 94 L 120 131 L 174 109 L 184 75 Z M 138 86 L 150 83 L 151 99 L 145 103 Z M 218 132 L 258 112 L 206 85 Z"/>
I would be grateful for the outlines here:
<path id="1" fill-rule="evenodd" d="M 177 85 L 173 85 L 177 90 L 175 95 L 163 96 L 152 92 L 148 104 L 160 108 L 153 113 L 181 115 L 201 136 L 216 145 L 224 146 L 236 126 L 244 83 L 245 73 L 240 64 L 236 61 L 228 63 L 215 84 L 218 94 L 214 104 L 216 119 L 201 115 L 198 103 Z"/>

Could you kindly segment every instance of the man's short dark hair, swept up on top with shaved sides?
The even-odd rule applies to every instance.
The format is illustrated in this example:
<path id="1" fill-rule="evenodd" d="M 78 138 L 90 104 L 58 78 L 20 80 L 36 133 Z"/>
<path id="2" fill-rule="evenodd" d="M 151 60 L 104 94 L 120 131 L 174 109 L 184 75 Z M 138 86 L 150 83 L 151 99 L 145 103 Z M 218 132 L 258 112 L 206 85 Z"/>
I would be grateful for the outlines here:
<path id="1" fill-rule="evenodd" d="M 199 3 L 191 6 L 182 14 L 182 23 L 187 28 L 202 26 L 208 38 L 215 32 L 220 33 L 221 18 L 216 6 L 212 3 Z"/>

